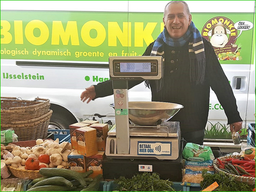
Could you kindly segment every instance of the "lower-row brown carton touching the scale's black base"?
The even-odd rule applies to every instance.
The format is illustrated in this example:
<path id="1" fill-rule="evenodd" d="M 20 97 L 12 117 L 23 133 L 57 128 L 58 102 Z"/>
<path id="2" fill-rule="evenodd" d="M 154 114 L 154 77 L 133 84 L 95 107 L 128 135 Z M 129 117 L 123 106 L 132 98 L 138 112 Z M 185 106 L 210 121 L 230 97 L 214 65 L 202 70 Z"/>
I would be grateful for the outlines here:
<path id="1" fill-rule="evenodd" d="M 104 155 L 105 152 L 98 152 L 96 155 L 86 157 L 87 171 L 93 170 L 93 174 L 91 174 L 89 177 L 95 178 L 97 175 L 102 174 L 102 160 Z"/>

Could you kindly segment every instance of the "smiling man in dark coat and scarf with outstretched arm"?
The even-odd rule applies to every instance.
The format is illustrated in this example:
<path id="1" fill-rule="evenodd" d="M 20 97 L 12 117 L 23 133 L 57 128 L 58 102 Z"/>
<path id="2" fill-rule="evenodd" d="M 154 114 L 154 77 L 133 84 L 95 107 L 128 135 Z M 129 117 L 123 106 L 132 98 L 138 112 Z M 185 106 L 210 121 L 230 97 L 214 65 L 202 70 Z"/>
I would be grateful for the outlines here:
<path id="1" fill-rule="evenodd" d="M 184 1 L 171 1 L 164 9 L 164 30 L 143 55 L 164 58 L 163 78 L 145 81 L 152 101 L 182 104 L 183 109 L 171 120 L 179 121 L 181 137 L 187 142 L 203 144 L 209 112 L 210 88 L 216 93 L 228 118 L 230 131 L 239 131 L 242 119 L 236 98 L 210 42 L 202 38 L 192 22 Z M 142 81 L 129 81 L 132 88 Z M 113 94 L 112 81 L 98 83 L 81 94 L 87 103 Z"/>

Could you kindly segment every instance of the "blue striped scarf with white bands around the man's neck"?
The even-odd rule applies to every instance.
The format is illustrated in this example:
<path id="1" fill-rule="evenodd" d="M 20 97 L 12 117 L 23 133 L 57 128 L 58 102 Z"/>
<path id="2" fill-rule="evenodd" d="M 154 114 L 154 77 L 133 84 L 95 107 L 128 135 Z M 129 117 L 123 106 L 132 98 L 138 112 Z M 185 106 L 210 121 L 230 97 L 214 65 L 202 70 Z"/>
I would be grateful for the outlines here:
<path id="1" fill-rule="evenodd" d="M 196 84 L 202 84 L 205 74 L 204 44 L 202 36 L 193 22 L 189 25 L 187 32 L 178 39 L 170 38 L 167 30 L 164 28 L 163 32 L 160 33 L 155 41 L 151 56 L 160 55 L 164 61 L 164 43 L 170 47 L 181 47 L 186 42 L 189 42 L 190 81 L 196 82 Z M 159 92 L 162 87 L 163 78 L 157 81 L 157 91 Z"/>

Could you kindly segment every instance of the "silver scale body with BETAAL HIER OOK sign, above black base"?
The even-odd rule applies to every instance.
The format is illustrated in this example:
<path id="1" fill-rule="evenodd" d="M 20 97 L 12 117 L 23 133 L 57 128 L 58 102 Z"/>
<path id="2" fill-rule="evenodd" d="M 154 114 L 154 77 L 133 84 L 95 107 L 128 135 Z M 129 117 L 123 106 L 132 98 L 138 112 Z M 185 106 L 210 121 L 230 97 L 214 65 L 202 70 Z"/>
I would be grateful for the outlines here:
<path id="1" fill-rule="evenodd" d="M 108 136 L 106 138 L 106 150 L 105 155 L 113 159 L 159 159 L 159 160 L 175 160 L 179 157 L 180 149 L 180 126 L 179 122 L 166 122 L 168 125 L 167 131 L 172 130 L 173 133 L 165 133 L 165 137 L 156 136 L 161 130 L 155 130 L 151 128 L 150 130 L 155 130 L 155 135 L 153 133 L 143 132 L 146 129 L 140 129 L 138 133 L 135 133 L 135 129 L 130 129 L 130 142 L 121 143 L 122 145 L 129 145 L 130 152 L 117 153 L 117 137 L 114 135 Z M 165 130 L 165 129 L 164 129 Z M 111 131 L 110 131 L 111 132 Z M 138 134 L 138 136 L 135 136 Z M 145 136 L 142 136 L 142 135 Z M 147 135 L 149 134 L 149 135 Z M 169 135 L 172 136 L 169 136 Z"/>

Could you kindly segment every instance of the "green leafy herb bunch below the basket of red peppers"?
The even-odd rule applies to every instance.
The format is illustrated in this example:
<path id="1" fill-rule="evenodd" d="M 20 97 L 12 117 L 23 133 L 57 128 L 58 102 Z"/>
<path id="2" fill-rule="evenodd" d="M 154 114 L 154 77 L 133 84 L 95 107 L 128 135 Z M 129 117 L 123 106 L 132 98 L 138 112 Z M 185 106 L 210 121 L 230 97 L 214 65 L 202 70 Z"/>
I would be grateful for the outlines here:
<path id="1" fill-rule="evenodd" d="M 236 181 L 233 177 L 229 177 L 224 173 L 215 173 L 214 175 L 211 175 L 207 173 L 206 169 L 202 170 L 202 177 L 204 178 L 204 180 L 201 181 L 202 189 L 208 187 L 215 181 L 219 186 L 213 191 L 252 191 L 255 187 L 254 185 Z"/>

